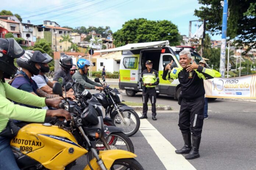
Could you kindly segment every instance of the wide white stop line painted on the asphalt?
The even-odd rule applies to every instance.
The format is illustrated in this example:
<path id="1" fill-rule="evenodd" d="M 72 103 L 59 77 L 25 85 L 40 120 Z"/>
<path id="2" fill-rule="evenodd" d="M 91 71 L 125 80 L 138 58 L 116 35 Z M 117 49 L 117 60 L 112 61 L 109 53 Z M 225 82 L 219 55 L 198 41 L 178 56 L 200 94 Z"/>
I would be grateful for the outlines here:
<path id="1" fill-rule="evenodd" d="M 196 170 L 182 155 L 175 154 L 176 148 L 149 121 L 141 119 L 139 130 L 167 170 Z"/>

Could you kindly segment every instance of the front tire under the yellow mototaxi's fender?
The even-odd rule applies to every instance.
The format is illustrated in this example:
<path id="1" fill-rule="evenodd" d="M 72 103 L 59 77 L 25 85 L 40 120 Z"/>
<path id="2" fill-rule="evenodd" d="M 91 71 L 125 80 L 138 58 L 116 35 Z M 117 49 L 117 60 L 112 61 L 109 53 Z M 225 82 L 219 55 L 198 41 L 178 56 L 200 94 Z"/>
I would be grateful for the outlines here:
<path id="1" fill-rule="evenodd" d="M 142 165 L 134 158 L 117 159 L 112 164 L 110 170 L 144 170 Z"/>

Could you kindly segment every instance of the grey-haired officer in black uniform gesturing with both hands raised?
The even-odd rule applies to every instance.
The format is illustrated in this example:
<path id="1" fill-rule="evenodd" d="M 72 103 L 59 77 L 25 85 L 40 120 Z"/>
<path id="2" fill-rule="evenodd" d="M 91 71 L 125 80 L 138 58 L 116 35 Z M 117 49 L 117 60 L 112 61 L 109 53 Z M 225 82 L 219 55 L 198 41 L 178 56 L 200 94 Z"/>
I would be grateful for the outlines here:
<path id="1" fill-rule="evenodd" d="M 173 61 L 167 64 L 164 69 L 162 78 L 177 79 L 181 85 L 181 96 L 179 104 L 179 129 L 185 145 L 181 149 L 176 150 L 176 154 L 188 154 L 186 159 L 199 158 L 199 145 L 203 128 L 203 112 L 205 106 L 205 88 L 203 79 L 213 78 L 215 73 L 211 69 L 199 66 L 194 61 L 191 64 L 191 53 L 183 50 L 179 53 L 179 64 L 181 67 L 175 67 Z M 192 133 L 192 145 L 191 145 Z"/>

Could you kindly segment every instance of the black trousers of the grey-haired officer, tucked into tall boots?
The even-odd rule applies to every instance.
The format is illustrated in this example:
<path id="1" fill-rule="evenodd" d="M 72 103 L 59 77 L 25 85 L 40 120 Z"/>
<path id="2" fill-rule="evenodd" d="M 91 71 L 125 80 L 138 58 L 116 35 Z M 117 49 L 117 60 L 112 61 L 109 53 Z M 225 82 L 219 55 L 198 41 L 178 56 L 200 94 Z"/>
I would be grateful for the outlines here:
<path id="1" fill-rule="evenodd" d="M 204 107 L 204 96 L 195 100 L 182 99 L 178 124 L 181 133 L 191 132 L 193 136 L 201 136 Z"/>

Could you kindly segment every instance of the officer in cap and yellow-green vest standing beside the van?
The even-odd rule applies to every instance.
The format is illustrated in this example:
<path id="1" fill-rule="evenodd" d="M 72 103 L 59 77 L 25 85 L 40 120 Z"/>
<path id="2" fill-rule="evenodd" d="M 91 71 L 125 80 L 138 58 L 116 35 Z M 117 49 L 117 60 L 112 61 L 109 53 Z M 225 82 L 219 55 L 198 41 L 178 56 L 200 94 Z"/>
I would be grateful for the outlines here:
<path id="1" fill-rule="evenodd" d="M 152 69 L 153 63 L 150 60 L 146 61 L 147 69 L 142 71 L 140 82 L 142 87 L 143 115 L 140 119 L 147 119 L 147 102 L 150 99 L 152 105 L 152 119 L 156 121 L 156 89 L 159 84 L 159 77 L 156 70 Z"/>

